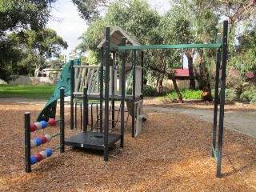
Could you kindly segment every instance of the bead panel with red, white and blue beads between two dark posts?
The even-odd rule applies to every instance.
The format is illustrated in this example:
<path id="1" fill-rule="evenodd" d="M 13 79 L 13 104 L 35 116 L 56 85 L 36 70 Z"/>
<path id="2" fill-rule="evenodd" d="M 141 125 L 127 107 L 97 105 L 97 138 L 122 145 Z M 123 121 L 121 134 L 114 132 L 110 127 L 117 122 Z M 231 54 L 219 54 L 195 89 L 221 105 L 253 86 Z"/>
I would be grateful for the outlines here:
<path id="1" fill-rule="evenodd" d="M 65 142 L 64 142 L 64 127 L 65 127 L 65 119 L 64 119 L 64 88 L 60 89 L 60 119 L 55 120 L 54 118 L 49 118 L 48 122 L 34 122 L 30 123 L 30 113 L 25 113 L 25 161 L 26 161 L 26 173 L 31 172 L 31 165 L 34 165 L 37 162 L 42 161 L 43 159 L 50 157 L 51 154 L 55 150 L 60 150 L 61 153 L 65 151 Z M 46 126 L 55 126 L 56 122 L 59 122 L 60 132 L 57 134 L 46 134 L 44 136 L 40 136 L 35 139 L 30 139 L 30 133 L 34 131 L 44 130 Z M 31 156 L 31 149 L 37 146 L 41 146 L 46 142 L 50 142 L 50 140 L 56 136 L 60 137 L 60 145 L 55 147 L 54 149 L 46 149 L 42 150 L 40 153 L 36 153 Z"/>

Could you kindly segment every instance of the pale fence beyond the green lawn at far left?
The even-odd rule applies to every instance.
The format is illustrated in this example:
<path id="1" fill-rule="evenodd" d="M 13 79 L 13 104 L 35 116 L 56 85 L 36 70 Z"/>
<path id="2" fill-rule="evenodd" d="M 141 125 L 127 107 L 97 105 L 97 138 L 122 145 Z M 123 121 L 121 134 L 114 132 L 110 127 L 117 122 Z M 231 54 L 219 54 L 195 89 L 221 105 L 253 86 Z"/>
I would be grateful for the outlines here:
<path id="1" fill-rule="evenodd" d="M 15 81 L 9 82 L 12 85 L 39 86 L 39 85 L 57 85 L 58 78 L 48 77 L 26 77 L 20 75 Z"/>

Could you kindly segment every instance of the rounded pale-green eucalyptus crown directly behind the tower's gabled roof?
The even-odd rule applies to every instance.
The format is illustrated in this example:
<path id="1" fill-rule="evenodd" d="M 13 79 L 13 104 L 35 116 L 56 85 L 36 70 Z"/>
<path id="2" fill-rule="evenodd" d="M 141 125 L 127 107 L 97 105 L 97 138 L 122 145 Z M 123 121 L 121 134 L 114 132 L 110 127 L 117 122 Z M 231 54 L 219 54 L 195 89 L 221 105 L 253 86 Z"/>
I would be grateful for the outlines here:
<path id="1" fill-rule="evenodd" d="M 136 37 L 142 44 L 154 44 L 155 28 L 160 15 L 150 9 L 146 1 L 119 1 L 110 4 L 106 14 L 91 22 L 82 36 L 82 44 L 90 50 L 97 51 L 97 45 L 105 36 L 106 26 L 120 26 Z"/>

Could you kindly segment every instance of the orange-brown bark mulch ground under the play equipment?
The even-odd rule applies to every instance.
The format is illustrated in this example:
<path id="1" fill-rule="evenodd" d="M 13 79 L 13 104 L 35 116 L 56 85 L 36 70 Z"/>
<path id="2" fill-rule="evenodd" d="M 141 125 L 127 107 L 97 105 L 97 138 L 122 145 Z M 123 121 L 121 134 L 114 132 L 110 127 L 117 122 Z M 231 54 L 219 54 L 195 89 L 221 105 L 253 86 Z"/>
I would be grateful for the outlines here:
<path id="1" fill-rule="evenodd" d="M 216 178 L 210 147 L 212 124 L 154 110 L 154 106 L 146 111 L 148 120 L 137 138 L 131 138 L 128 124 L 125 147 L 117 144 L 110 150 L 109 162 L 103 161 L 101 151 L 66 146 L 65 153 L 55 151 L 27 174 L 23 116 L 30 111 L 34 122 L 42 107 L 0 103 L 1 191 L 256 191 L 255 138 L 224 130 L 222 178 Z M 69 119 L 70 108 L 66 108 L 66 137 L 77 134 L 70 130 Z M 47 127 L 32 133 L 31 138 L 56 132 L 58 126 Z M 31 154 L 54 146 L 58 146 L 58 138 L 33 149 Z"/>

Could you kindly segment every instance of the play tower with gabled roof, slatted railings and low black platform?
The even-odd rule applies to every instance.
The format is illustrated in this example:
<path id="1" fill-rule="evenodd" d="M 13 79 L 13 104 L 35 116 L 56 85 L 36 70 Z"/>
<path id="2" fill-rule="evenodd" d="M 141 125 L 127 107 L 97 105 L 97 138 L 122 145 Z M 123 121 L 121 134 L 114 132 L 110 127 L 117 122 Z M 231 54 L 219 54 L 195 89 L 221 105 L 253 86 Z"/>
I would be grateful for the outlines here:
<path id="1" fill-rule="evenodd" d="M 121 29 L 115 28 L 110 33 L 110 28 L 107 29 L 106 37 L 119 35 L 119 40 L 112 38 L 110 41 L 115 41 L 115 45 L 121 46 L 124 42 L 122 35 L 125 32 L 122 31 L 122 34 L 119 34 Z M 106 41 L 102 41 L 98 45 L 98 48 L 101 48 L 101 66 L 74 66 L 71 64 L 70 127 L 74 129 L 74 124 L 77 122 L 77 110 L 74 110 L 75 100 L 83 100 L 83 113 L 80 113 L 83 119 L 83 132 L 65 140 L 66 145 L 104 150 L 105 161 L 108 161 L 109 148 L 116 142 L 120 141 L 120 146 L 123 147 L 128 115 L 130 114 L 132 118 L 132 137 L 136 137 L 142 132 L 142 120 L 146 118 L 142 109 L 143 62 L 138 65 L 136 57 L 134 57 L 132 64 L 126 65 L 126 58 L 123 55 L 122 65 L 118 65 L 114 51 L 111 53 L 113 58 L 110 61 L 110 50 L 106 49 L 106 42 L 109 41 L 107 38 Z M 131 43 L 139 45 L 134 40 L 131 40 Z M 131 94 L 128 93 L 130 88 Z M 98 102 L 91 103 L 90 100 Z M 99 105 L 96 114 L 97 126 L 91 125 L 91 130 L 87 129 L 88 104 L 95 104 L 96 108 Z M 92 109 L 93 107 L 91 107 L 91 111 Z M 127 116 L 126 119 L 125 116 Z"/>

